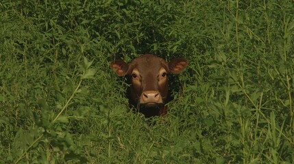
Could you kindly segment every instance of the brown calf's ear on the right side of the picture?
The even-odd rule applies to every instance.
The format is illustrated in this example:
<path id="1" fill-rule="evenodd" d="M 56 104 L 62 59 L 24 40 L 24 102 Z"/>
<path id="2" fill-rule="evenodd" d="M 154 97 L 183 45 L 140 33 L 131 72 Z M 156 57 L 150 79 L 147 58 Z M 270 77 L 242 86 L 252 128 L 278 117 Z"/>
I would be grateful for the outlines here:
<path id="1" fill-rule="evenodd" d="M 186 66 L 188 66 L 188 60 L 184 58 L 175 58 L 169 61 L 169 72 L 179 74 Z"/>

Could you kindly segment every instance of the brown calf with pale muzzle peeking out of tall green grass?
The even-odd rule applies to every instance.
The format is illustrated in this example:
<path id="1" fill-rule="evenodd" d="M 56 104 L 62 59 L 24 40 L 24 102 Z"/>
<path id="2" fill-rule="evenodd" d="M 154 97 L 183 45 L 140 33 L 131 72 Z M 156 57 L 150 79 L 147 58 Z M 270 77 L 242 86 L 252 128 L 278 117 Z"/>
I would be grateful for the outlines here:
<path id="1" fill-rule="evenodd" d="M 141 55 L 130 64 L 122 60 L 114 60 L 110 67 L 118 76 L 126 76 L 130 88 L 127 92 L 130 105 L 149 118 L 154 115 L 164 115 L 164 107 L 168 95 L 169 73 L 179 74 L 188 66 L 188 60 L 175 58 L 169 63 L 154 55 Z"/>

